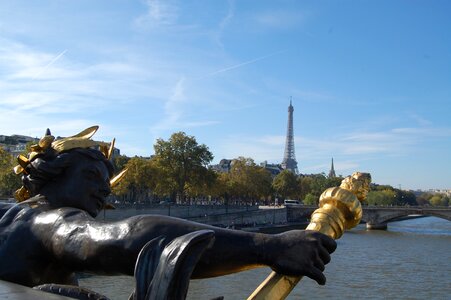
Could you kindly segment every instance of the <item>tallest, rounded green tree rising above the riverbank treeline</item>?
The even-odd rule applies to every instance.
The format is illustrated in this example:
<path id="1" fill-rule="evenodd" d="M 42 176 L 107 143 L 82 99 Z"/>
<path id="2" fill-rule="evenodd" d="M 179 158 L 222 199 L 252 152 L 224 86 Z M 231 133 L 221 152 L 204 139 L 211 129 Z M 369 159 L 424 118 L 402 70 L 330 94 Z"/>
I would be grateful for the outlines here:
<path id="1" fill-rule="evenodd" d="M 204 144 L 199 145 L 193 136 L 177 132 L 168 141 L 158 139 L 154 149 L 156 167 L 162 176 L 160 180 L 165 181 L 166 192 L 173 201 L 177 196 L 183 201 L 188 186 L 193 189 L 205 182 L 207 165 L 213 154 Z"/>

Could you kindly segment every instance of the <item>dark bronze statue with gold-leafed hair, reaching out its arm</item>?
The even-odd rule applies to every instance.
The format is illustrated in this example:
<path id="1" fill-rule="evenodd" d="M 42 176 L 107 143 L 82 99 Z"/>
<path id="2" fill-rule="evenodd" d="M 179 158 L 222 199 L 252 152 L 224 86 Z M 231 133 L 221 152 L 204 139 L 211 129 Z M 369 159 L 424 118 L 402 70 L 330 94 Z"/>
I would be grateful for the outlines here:
<path id="1" fill-rule="evenodd" d="M 214 238 L 198 257 L 192 278 L 269 266 L 325 283 L 322 272 L 336 243 L 315 231 L 266 235 L 160 215 L 95 220 L 113 177 L 108 160 L 112 147 L 92 148 L 98 145 L 90 139 L 96 130 L 62 140 L 48 132 L 28 157 L 19 157 L 15 171 L 22 174 L 24 186 L 16 196 L 21 202 L 0 206 L 0 279 L 31 287 L 76 285 L 75 272 L 133 275 L 137 256 L 149 241 L 164 237 L 159 243 L 167 246 L 201 230 Z"/>

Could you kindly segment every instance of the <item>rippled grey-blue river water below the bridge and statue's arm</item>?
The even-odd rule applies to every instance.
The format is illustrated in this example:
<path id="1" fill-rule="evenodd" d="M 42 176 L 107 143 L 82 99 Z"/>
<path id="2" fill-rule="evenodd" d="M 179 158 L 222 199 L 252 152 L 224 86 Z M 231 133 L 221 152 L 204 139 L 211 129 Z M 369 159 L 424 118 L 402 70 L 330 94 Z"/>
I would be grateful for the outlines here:
<path id="1" fill-rule="evenodd" d="M 451 299 L 450 221 L 411 219 L 389 223 L 387 231 L 359 225 L 337 243 L 326 266 L 326 285 L 304 278 L 288 299 Z M 269 273 L 261 268 L 192 280 L 187 299 L 246 299 Z M 81 279 L 80 285 L 123 300 L 133 278 L 93 276 Z"/>

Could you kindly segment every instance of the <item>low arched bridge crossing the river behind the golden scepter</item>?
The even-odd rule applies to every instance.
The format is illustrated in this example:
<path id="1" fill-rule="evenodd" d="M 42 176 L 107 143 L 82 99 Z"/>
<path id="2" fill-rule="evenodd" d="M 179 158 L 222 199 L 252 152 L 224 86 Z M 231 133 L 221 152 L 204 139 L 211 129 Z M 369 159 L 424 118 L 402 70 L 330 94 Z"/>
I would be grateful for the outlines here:
<path id="1" fill-rule="evenodd" d="M 287 221 L 302 222 L 309 219 L 316 206 L 296 205 L 287 207 Z M 451 221 L 451 207 L 426 206 L 363 206 L 362 222 L 368 229 L 387 229 L 387 223 L 408 216 L 433 216 Z"/>

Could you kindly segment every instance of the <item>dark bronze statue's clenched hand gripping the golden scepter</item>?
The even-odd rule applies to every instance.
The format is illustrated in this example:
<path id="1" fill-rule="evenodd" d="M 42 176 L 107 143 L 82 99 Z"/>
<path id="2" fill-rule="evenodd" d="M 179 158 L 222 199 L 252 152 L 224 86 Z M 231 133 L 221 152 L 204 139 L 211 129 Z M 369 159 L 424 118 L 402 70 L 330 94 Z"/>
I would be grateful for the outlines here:
<path id="1" fill-rule="evenodd" d="M 278 252 L 271 268 L 285 275 L 308 276 L 324 285 L 324 265 L 330 262 L 330 253 L 336 242 L 317 231 L 292 230 L 274 236 Z"/>

